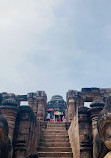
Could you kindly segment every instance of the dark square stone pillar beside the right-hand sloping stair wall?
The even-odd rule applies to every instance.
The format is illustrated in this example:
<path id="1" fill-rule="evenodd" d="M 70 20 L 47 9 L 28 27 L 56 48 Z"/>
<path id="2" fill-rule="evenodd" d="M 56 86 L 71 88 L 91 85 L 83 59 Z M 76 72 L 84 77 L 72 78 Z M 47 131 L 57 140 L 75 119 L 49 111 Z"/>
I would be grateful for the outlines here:
<path id="1" fill-rule="evenodd" d="M 79 139 L 80 139 L 80 158 L 92 158 L 92 126 L 90 112 L 87 107 L 79 107 Z"/>

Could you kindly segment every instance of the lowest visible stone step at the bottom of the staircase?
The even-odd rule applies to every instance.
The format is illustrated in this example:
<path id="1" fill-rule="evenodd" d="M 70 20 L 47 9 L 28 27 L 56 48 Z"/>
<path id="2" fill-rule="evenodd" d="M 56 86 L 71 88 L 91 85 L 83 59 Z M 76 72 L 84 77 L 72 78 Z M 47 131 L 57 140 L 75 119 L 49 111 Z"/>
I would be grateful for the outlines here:
<path id="1" fill-rule="evenodd" d="M 38 152 L 39 157 L 73 157 L 72 152 Z"/>

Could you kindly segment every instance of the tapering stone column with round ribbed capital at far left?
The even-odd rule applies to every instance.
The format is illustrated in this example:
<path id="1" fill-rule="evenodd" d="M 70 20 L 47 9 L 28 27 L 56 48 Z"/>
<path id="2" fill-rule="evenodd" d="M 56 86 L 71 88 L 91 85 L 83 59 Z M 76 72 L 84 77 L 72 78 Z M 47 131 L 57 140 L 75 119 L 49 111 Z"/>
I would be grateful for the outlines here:
<path id="1" fill-rule="evenodd" d="M 7 119 L 9 127 L 9 138 L 13 140 L 13 133 L 15 128 L 15 121 L 18 114 L 18 104 L 14 99 L 6 99 L 2 102 L 0 106 L 3 116 Z"/>

